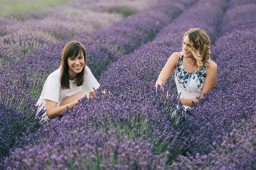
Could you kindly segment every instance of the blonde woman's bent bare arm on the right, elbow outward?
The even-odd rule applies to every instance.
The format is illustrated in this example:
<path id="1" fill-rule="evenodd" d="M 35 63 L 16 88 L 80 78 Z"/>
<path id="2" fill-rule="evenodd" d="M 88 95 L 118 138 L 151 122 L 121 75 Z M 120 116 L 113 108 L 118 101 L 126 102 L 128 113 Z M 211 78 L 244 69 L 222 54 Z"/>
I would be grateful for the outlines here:
<path id="1" fill-rule="evenodd" d="M 217 65 L 215 64 L 215 62 L 211 61 L 209 63 L 209 66 L 207 68 L 207 71 L 205 73 L 205 80 L 204 80 L 204 86 L 200 95 L 200 98 L 203 99 L 204 98 L 204 94 L 209 93 L 209 91 L 211 91 L 216 83 L 216 78 L 217 78 Z M 180 102 L 183 105 L 186 106 L 191 106 L 192 102 L 194 102 L 195 104 L 198 104 L 198 99 L 194 98 L 194 99 L 182 99 L 180 98 Z"/>

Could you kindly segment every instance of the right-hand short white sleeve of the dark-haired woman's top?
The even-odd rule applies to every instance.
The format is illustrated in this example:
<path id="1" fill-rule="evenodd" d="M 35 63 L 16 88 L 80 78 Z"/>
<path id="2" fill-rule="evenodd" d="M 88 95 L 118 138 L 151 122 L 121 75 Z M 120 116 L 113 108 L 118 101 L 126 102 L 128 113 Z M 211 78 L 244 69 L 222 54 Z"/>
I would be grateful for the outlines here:
<path id="1" fill-rule="evenodd" d="M 99 88 L 99 82 L 96 80 L 96 78 L 93 76 L 92 72 L 90 71 L 90 68 L 86 67 L 86 71 L 84 74 L 84 84 L 83 84 L 83 88 L 82 91 L 86 91 L 86 92 L 93 92 L 94 89 Z"/>

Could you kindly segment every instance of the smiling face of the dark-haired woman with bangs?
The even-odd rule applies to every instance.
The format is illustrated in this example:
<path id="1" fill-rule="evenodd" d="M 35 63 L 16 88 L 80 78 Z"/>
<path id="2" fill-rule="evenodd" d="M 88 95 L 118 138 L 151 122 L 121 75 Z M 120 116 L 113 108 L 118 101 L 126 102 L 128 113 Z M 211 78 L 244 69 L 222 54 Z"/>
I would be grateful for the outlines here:
<path id="1" fill-rule="evenodd" d="M 79 54 L 76 57 L 69 57 L 67 59 L 68 72 L 70 80 L 75 79 L 77 74 L 81 73 L 84 68 L 84 55 L 83 53 Z"/>

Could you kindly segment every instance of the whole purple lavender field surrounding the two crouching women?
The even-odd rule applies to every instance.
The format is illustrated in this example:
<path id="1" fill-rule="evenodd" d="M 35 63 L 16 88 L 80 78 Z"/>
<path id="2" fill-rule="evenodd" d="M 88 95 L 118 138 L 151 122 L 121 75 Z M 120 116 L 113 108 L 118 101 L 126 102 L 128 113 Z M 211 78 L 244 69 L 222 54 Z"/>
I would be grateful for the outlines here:
<path id="1" fill-rule="evenodd" d="M 184 111 L 174 73 L 154 84 L 189 28 L 209 35 L 218 73 Z M 73 0 L 1 17 L 0 169 L 256 169 L 255 28 L 255 0 Z M 40 125 L 35 104 L 71 40 L 110 94 Z"/>

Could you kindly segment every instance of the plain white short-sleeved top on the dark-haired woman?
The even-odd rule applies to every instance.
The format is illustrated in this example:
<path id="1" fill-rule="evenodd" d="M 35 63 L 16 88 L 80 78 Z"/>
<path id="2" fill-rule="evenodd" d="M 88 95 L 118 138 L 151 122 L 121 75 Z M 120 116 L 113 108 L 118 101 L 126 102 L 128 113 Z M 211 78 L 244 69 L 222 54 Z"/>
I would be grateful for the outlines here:
<path id="1" fill-rule="evenodd" d="M 36 104 L 42 104 L 38 111 L 41 111 L 41 109 L 45 106 L 45 99 L 56 102 L 58 107 L 61 101 L 66 97 L 72 96 L 73 94 L 77 94 L 81 91 L 93 92 L 93 88 L 97 89 L 100 86 L 99 82 L 93 76 L 90 68 L 88 68 L 87 65 L 85 66 L 84 83 L 81 86 L 76 86 L 76 84 L 73 83 L 74 80 L 70 80 L 70 88 L 61 89 L 60 76 L 61 68 L 58 68 L 58 70 L 55 70 L 47 77 L 41 92 L 41 96 Z"/>

